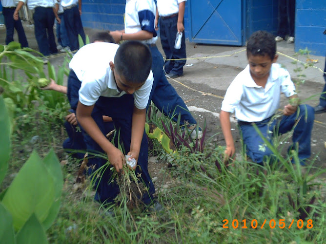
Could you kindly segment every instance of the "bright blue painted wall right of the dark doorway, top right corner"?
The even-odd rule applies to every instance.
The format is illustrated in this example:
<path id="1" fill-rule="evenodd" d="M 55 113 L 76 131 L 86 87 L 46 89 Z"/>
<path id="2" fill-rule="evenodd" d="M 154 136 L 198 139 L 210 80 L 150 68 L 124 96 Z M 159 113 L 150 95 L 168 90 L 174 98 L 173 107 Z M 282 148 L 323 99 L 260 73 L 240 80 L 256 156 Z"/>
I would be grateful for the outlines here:
<path id="1" fill-rule="evenodd" d="M 326 0 L 297 0 L 295 51 L 308 48 L 311 54 L 326 55 Z"/>

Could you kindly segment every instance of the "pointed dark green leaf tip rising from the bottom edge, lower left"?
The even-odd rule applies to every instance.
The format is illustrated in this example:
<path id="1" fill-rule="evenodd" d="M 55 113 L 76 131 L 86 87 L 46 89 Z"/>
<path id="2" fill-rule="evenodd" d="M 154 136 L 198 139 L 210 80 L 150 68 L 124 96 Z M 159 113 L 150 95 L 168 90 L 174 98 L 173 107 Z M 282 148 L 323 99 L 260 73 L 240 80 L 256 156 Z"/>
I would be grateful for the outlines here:
<path id="1" fill-rule="evenodd" d="M 26 221 L 16 236 L 16 244 L 47 244 L 47 238 L 35 213 Z"/>

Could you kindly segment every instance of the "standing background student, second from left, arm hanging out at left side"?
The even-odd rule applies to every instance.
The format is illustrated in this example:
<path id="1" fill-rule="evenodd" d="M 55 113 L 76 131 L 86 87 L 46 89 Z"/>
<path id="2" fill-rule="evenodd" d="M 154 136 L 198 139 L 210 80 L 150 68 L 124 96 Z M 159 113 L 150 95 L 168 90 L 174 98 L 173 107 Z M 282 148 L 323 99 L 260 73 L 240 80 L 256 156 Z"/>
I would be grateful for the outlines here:
<path id="1" fill-rule="evenodd" d="M 18 11 L 24 5 L 26 0 L 20 0 L 15 12 L 14 19 L 18 20 Z M 27 7 L 34 10 L 34 31 L 35 38 L 38 42 L 39 50 L 42 55 L 48 56 L 50 54 L 58 53 L 57 44 L 54 38 L 54 2 L 53 0 L 28 0 Z"/>

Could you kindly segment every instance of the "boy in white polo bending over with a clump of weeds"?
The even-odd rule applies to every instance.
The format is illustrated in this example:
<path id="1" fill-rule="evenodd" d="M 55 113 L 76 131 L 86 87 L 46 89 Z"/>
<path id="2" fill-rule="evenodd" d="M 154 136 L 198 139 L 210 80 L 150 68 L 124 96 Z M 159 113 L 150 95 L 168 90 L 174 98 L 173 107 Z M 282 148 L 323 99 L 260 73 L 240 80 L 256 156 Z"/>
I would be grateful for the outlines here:
<path id="1" fill-rule="evenodd" d="M 146 106 L 153 84 L 151 65 L 149 48 L 139 41 L 125 41 L 120 46 L 91 43 L 72 58 L 67 87 L 87 151 L 105 152 L 110 164 L 121 172 L 125 156 L 107 140 L 102 115 L 112 117 L 115 127 L 120 129 L 124 150 L 137 160 L 133 169 L 148 188 L 142 199 L 148 206 L 153 204 L 155 192 L 147 169 L 148 144 L 144 131 Z M 88 165 L 94 165 L 95 169 L 106 162 L 102 157 L 88 157 Z M 105 204 L 112 203 L 119 193 L 109 168 L 102 171 L 102 178 L 96 183 L 95 200 Z M 162 206 L 155 202 L 154 208 L 158 210 Z"/>

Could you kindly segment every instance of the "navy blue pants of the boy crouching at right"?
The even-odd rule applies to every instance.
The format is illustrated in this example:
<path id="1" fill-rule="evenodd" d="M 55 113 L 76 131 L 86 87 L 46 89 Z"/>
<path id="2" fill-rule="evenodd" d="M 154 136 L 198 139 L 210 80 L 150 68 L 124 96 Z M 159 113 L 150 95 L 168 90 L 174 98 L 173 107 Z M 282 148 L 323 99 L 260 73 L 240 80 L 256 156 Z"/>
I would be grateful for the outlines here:
<path id="1" fill-rule="evenodd" d="M 272 143 L 272 136 L 275 131 L 277 131 L 278 134 L 283 134 L 292 130 L 294 124 L 298 122 L 293 130 L 293 145 L 290 146 L 289 150 L 297 149 L 300 163 L 304 165 L 305 159 L 311 155 L 310 140 L 315 115 L 314 109 L 306 104 L 300 105 L 297 111 L 299 114 L 294 113 L 290 116 L 283 115 L 281 120 L 274 120 L 269 123 L 271 118 L 267 118 L 255 124 L 263 136 Z M 261 146 L 264 145 L 264 141 L 251 123 L 239 121 L 238 124 L 240 125 L 247 155 L 254 162 L 262 164 L 264 158 L 272 155 L 272 151 L 267 146 L 265 146 L 265 151 L 260 150 Z M 272 133 L 270 133 L 270 131 L 272 131 Z M 299 144 L 299 148 L 296 148 L 296 143 Z"/>

